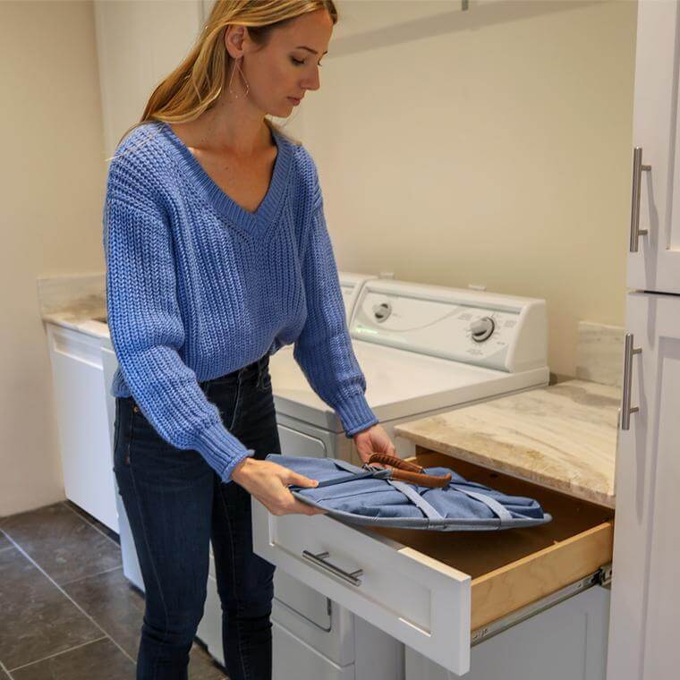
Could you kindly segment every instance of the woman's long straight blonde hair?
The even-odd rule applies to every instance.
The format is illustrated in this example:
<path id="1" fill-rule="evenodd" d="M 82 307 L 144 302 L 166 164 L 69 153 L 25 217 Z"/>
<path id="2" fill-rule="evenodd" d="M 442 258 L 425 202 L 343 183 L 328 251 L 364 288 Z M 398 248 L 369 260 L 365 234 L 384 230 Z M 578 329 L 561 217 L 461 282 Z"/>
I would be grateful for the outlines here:
<path id="1" fill-rule="evenodd" d="M 265 47 L 273 30 L 318 10 L 326 10 L 333 23 L 337 22 L 333 0 L 217 0 L 189 55 L 158 83 L 140 121 L 128 128 L 118 143 L 142 123 L 187 123 L 215 105 L 225 85 L 228 64 L 233 61 L 225 47 L 227 26 L 246 26 L 250 38 Z M 292 140 L 276 123 L 267 118 L 265 122 Z"/>

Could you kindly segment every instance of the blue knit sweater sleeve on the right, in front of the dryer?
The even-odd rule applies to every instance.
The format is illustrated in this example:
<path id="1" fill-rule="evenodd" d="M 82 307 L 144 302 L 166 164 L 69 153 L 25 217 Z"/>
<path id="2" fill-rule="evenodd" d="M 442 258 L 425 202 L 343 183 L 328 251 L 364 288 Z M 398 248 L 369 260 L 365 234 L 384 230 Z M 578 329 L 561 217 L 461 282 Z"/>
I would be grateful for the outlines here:
<path id="1" fill-rule="evenodd" d="M 307 320 L 293 356 L 312 389 L 336 411 L 349 438 L 375 425 L 378 418 L 366 401 L 366 379 L 347 328 L 318 179 L 310 220 L 302 256 Z"/>

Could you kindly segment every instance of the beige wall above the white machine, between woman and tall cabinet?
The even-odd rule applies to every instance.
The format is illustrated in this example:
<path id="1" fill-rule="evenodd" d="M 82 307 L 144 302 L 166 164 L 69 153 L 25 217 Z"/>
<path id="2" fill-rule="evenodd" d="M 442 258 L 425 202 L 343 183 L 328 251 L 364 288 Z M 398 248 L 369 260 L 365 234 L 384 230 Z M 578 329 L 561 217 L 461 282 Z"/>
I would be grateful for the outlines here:
<path id="1" fill-rule="evenodd" d="M 636 3 L 338 5 L 293 124 L 340 268 L 545 298 L 574 375 L 577 321 L 624 323 Z"/>

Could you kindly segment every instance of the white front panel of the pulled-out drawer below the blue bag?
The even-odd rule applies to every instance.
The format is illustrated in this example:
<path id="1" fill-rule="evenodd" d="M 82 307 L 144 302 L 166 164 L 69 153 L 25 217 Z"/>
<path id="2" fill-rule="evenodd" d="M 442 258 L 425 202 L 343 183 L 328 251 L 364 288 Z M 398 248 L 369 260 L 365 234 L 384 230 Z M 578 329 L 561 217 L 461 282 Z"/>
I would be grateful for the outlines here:
<path id="1" fill-rule="evenodd" d="M 329 517 L 270 515 L 253 501 L 255 551 L 284 571 L 441 665 L 463 673 L 470 657 L 470 576 Z M 303 557 L 325 561 L 357 584 Z"/>

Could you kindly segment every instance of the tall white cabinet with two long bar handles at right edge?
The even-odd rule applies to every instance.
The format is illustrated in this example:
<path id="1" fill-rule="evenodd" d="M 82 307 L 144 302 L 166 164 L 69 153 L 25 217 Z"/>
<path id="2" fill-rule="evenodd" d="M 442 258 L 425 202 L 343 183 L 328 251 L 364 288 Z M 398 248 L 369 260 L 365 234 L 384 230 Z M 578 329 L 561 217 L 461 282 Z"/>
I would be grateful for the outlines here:
<path id="1" fill-rule="evenodd" d="M 608 680 L 680 668 L 679 35 L 676 0 L 639 0 Z"/>

